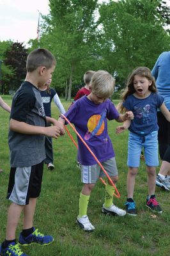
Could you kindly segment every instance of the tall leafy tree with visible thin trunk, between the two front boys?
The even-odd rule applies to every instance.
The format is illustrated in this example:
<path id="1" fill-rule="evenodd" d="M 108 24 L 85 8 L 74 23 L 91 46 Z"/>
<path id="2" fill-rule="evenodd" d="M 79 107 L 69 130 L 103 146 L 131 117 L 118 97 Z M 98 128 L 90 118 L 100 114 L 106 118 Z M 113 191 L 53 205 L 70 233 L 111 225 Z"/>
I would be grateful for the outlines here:
<path id="1" fill-rule="evenodd" d="M 94 20 L 97 0 L 50 0 L 49 2 L 50 15 L 45 19 L 43 44 L 48 45 L 48 49 L 57 57 L 58 67 L 54 78 L 59 73 L 56 81 L 68 85 L 68 100 L 70 100 L 72 83 L 80 81 L 87 71 L 85 68 L 88 61 L 93 57 L 91 44 L 95 40 Z"/>

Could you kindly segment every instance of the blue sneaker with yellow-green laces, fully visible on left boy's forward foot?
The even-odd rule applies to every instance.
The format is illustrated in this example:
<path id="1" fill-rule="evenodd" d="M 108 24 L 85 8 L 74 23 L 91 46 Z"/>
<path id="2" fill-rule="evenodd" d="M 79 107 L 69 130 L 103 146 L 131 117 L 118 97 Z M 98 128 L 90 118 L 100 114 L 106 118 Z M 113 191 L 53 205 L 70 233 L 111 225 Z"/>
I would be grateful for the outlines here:
<path id="1" fill-rule="evenodd" d="M 27 237 L 22 236 L 20 233 L 19 236 L 19 244 L 23 246 L 27 246 L 29 244 L 39 244 L 39 245 L 47 245 L 54 241 L 52 236 L 44 236 L 40 232 L 38 232 L 38 228 L 33 228 L 33 233 Z"/>

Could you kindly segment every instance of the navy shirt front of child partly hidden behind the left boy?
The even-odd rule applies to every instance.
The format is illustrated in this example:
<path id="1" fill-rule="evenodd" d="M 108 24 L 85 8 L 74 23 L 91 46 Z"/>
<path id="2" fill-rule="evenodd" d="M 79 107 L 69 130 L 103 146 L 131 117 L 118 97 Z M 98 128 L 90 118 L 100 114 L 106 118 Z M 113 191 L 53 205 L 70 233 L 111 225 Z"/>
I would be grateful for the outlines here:
<path id="1" fill-rule="evenodd" d="M 51 101 L 54 98 L 54 95 L 56 95 L 56 91 L 53 88 L 49 88 L 49 92 L 46 91 L 41 91 L 40 90 L 40 94 L 42 96 L 42 102 L 43 102 L 43 108 L 45 111 L 45 115 L 46 116 L 50 116 L 51 117 Z"/>

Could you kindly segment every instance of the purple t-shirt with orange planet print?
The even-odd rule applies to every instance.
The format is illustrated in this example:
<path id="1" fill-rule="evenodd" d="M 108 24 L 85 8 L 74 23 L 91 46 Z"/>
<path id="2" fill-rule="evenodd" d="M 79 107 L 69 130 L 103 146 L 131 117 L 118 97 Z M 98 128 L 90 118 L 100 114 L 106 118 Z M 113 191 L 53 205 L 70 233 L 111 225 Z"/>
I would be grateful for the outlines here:
<path id="1" fill-rule="evenodd" d="M 107 99 L 102 104 L 95 104 L 86 96 L 77 100 L 65 113 L 66 118 L 75 125 L 77 132 L 82 136 L 98 161 L 103 162 L 115 156 L 111 139 L 107 132 L 107 119 L 117 119 L 120 114 Z M 97 161 L 88 148 L 78 140 L 77 160 L 83 165 L 93 165 Z"/>

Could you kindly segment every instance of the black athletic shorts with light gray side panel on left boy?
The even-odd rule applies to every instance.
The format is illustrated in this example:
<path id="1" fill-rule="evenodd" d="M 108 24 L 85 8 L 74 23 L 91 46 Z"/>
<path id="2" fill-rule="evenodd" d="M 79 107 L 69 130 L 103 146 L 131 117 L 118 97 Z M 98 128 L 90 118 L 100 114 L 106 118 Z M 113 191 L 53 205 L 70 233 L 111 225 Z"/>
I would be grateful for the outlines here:
<path id="1" fill-rule="evenodd" d="M 29 198 L 40 195 L 42 175 L 43 162 L 34 166 L 11 168 L 7 198 L 18 205 L 29 204 Z"/>

